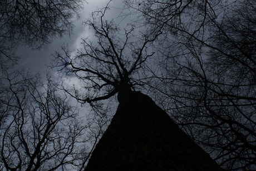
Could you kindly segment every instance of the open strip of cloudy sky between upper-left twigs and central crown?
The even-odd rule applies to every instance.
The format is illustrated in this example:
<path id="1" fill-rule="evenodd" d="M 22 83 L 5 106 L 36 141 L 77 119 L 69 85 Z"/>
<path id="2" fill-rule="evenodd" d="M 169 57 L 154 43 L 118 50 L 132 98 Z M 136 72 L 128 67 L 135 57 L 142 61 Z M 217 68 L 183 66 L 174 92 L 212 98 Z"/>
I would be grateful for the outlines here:
<path id="1" fill-rule="evenodd" d="M 51 44 L 48 44 L 46 49 L 31 50 L 29 47 L 18 47 L 16 55 L 21 57 L 19 66 L 26 67 L 32 72 L 43 72 L 46 71 L 46 64 L 49 64 L 52 60 L 52 54 L 55 51 L 60 52 L 62 44 L 68 44 L 69 49 L 76 49 L 81 43 L 81 38 L 90 36 L 82 22 L 91 17 L 91 13 L 99 8 L 106 6 L 108 0 L 87 0 L 84 4 L 84 8 L 80 12 L 80 19 L 74 18 L 73 34 L 71 36 L 65 35 L 62 38 L 58 38 Z M 120 1 L 121 2 L 121 1 Z M 111 6 L 119 6 L 120 2 L 112 2 Z M 115 10 L 108 13 L 109 16 L 115 16 Z"/>

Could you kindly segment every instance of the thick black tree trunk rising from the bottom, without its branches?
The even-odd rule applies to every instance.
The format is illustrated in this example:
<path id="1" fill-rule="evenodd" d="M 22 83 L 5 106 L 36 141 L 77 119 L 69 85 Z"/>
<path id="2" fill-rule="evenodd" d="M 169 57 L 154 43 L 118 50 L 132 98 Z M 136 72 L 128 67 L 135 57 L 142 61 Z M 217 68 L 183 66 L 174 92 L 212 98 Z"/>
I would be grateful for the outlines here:
<path id="1" fill-rule="evenodd" d="M 86 171 L 222 170 L 147 95 L 119 93 L 119 102 Z"/>

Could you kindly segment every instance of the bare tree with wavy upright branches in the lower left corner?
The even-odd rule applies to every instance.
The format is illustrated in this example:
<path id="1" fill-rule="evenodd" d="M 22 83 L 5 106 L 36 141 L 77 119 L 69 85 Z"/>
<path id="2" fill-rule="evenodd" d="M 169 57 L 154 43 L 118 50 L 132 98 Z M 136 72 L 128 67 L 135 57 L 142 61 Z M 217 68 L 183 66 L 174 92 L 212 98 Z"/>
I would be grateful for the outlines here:
<path id="1" fill-rule="evenodd" d="M 86 158 L 85 128 L 57 83 L 8 73 L 0 97 L 1 170 L 73 170 Z"/>

